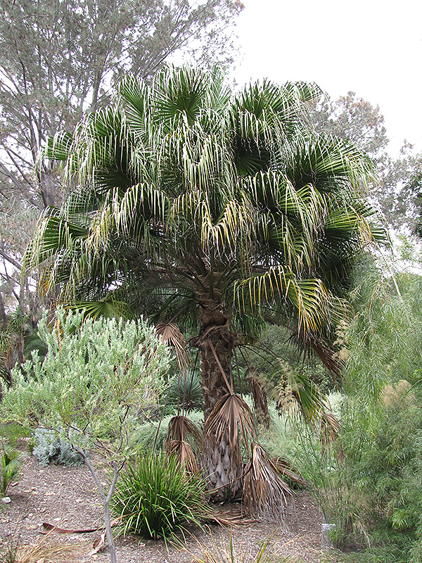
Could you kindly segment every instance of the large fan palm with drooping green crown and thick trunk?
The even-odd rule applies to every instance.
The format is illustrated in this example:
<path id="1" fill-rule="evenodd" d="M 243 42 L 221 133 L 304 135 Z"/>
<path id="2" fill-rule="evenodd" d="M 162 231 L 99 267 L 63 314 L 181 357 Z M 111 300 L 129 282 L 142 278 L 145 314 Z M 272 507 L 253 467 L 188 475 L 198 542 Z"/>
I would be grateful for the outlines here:
<path id="1" fill-rule="evenodd" d="M 362 198 L 369 159 L 310 130 L 307 101 L 320 95 L 268 81 L 232 94 L 219 72 L 191 68 L 127 77 L 113 106 L 46 150 L 73 189 L 41 216 L 27 266 L 42 263 L 41 287 L 62 301 L 195 334 L 203 465 L 219 500 L 240 487 L 238 429 L 253 436 L 236 347 L 271 318 L 335 369 L 329 340 L 353 261 L 383 237 Z M 306 381 L 297 396 L 308 412 L 319 403 Z"/>

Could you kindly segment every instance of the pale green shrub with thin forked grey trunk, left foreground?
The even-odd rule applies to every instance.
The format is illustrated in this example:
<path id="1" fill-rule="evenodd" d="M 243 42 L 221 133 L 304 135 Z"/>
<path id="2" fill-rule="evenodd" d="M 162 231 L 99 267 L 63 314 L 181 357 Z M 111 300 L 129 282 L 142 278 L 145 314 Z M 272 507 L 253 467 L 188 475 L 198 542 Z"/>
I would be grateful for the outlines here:
<path id="1" fill-rule="evenodd" d="M 116 561 L 110 498 L 134 427 L 155 405 L 165 384 L 168 348 L 143 320 L 85 319 L 84 312 L 56 311 L 39 333 L 48 353 L 37 353 L 13 371 L 13 387 L 2 386 L 4 419 L 54 431 L 72 444 L 89 467 L 103 502 L 110 559 Z M 85 448 L 103 455 L 113 469 L 103 488 Z"/>

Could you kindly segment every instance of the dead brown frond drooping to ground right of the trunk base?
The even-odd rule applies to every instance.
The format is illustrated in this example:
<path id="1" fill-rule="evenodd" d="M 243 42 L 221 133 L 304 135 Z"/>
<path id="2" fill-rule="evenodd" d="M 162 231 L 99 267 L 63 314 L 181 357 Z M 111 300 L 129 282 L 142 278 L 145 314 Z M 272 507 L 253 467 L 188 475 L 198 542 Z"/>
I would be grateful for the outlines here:
<path id="1" fill-rule="evenodd" d="M 245 467 L 243 502 L 253 517 L 262 520 L 283 521 L 287 505 L 286 496 L 292 492 L 281 479 L 276 466 L 267 457 L 264 449 L 252 444 L 252 457 Z"/>

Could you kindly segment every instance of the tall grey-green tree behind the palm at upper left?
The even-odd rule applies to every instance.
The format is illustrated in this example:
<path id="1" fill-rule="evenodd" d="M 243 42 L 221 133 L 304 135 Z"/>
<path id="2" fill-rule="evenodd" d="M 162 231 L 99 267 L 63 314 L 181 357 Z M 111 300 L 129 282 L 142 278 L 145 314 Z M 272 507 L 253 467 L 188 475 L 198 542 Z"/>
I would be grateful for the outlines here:
<path id="1" fill-rule="evenodd" d="M 238 0 L 0 0 L 0 256 L 13 278 L 34 221 L 66 196 L 46 138 L 110 100 L 124 72 L 151 77 L 183 54 L 229 64 Z M 13 281 L 13 283 L 12 283 Z M 25 284 L 5 279 L 12 308 L 31 309 Z M 14 293 L 13 293 L 14 292 Z M 31 313 L 36 313 L 30 310 Z"/>

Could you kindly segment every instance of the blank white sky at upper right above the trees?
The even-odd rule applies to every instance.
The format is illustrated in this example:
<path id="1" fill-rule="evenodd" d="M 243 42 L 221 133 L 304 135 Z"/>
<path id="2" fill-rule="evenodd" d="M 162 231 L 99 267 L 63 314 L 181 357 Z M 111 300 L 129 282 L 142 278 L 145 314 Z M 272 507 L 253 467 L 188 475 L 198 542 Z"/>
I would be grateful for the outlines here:
<path id="1" fill-rule="evenodd" d="M 331 98 L 355 91 L 385 117 L 392 150 L 422 151 L 421 0 L 242 0 L 238 84 L 316 82 Z"/>

